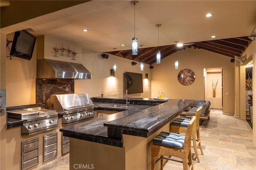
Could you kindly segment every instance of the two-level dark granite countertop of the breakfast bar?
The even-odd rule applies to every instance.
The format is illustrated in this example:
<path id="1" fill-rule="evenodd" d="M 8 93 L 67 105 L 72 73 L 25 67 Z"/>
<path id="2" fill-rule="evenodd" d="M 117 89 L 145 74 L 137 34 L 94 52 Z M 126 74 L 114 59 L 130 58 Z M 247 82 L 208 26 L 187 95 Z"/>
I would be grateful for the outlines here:
<path id="1" fill-rule="evenodd" d="M 102 98 L 100 97 L 99 99 Z M 129 99 L 130 101 L 133 100 Z M 98 103 L 106 100 L 94 101 L 93 98 L 96 108 L 108 107 L 106 104 L 108 102 L 105 104 Z M 114 99 L 109 100 L 112 100 L 111 103 L 116 103 L 113 102 L 115 101 Z M 123 100 L 125 101 L 125 99 L 121 99 L 121 101 Z M 144 103 L 143 99 L 135 100 Z M 146 101 L 149 101 L 149 103 L 154 101 L 154 104 L 159 102 L 152 99 Z M 61 128 L 60 131 L 63 132 L 64 136 L 122 147 L 122 134 L 148 137 L 190 107 L 193 100 L 169 99 L 168 102 L 164 102 L 160 101 L 160 105 L 155 106 L 131 105 L 133 107 L 129 107 L 127 110 Z"/>

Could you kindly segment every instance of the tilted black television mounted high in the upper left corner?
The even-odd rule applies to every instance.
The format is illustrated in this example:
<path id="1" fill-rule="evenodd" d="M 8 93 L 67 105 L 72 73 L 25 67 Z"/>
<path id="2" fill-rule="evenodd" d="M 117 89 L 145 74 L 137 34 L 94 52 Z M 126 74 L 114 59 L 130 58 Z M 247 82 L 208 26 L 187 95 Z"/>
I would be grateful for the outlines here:
<path id="1" fill-rule="evenodd" d="M 17 31 L 12 40 L 10 56 L 20 57 L 30 60 L 34 51 L 36 36 L 26 30 Z"/>

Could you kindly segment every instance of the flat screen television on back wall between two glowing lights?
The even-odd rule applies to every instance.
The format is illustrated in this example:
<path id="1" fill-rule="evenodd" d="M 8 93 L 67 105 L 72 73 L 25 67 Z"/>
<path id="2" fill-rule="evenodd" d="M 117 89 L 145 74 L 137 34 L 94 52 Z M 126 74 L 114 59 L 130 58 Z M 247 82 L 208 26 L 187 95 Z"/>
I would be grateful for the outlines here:
<path id="1" fill-rule="evenodd" d="M 125 83 L 128 94 L 143 93 L 142 74 L 125 72 Z"/>

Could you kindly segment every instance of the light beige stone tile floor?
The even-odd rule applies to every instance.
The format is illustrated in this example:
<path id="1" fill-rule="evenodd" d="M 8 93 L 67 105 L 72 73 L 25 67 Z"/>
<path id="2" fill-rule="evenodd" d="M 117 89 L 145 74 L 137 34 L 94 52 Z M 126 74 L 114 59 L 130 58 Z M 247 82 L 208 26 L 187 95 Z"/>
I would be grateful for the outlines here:
<path id="1" fill-rule="evenodd" d="M 200 136 L 204 155 L 198 149 L 200 163 L 193 159 L 194 170 L 256 170 L 256 147 L 252 129 L 245 120 L 211 110 L 208 126 L 200 126 Z M 34 170 L 68 169 L 69 154 Z M 183 169 L 182 163 L 168 160 L 164 164 L 164 170 L 178 169 Z"/>

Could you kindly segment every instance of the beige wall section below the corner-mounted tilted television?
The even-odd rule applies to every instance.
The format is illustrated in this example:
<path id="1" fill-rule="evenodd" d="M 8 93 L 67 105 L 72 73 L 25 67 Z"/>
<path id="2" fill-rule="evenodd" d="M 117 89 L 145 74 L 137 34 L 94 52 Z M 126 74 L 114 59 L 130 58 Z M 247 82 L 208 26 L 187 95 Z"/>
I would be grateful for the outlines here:
<path id="1" fill-rule="evenodd" d="M 8 34 L 13 40 L 14 34 Z M 9 45 L 11 47 L 11 45 Z M 10 51 L 6 49 L 6 55 Z M 6 59 L 6 106 L 36 103 L 36 46 L 31 60 L 12 57 Z"/>

